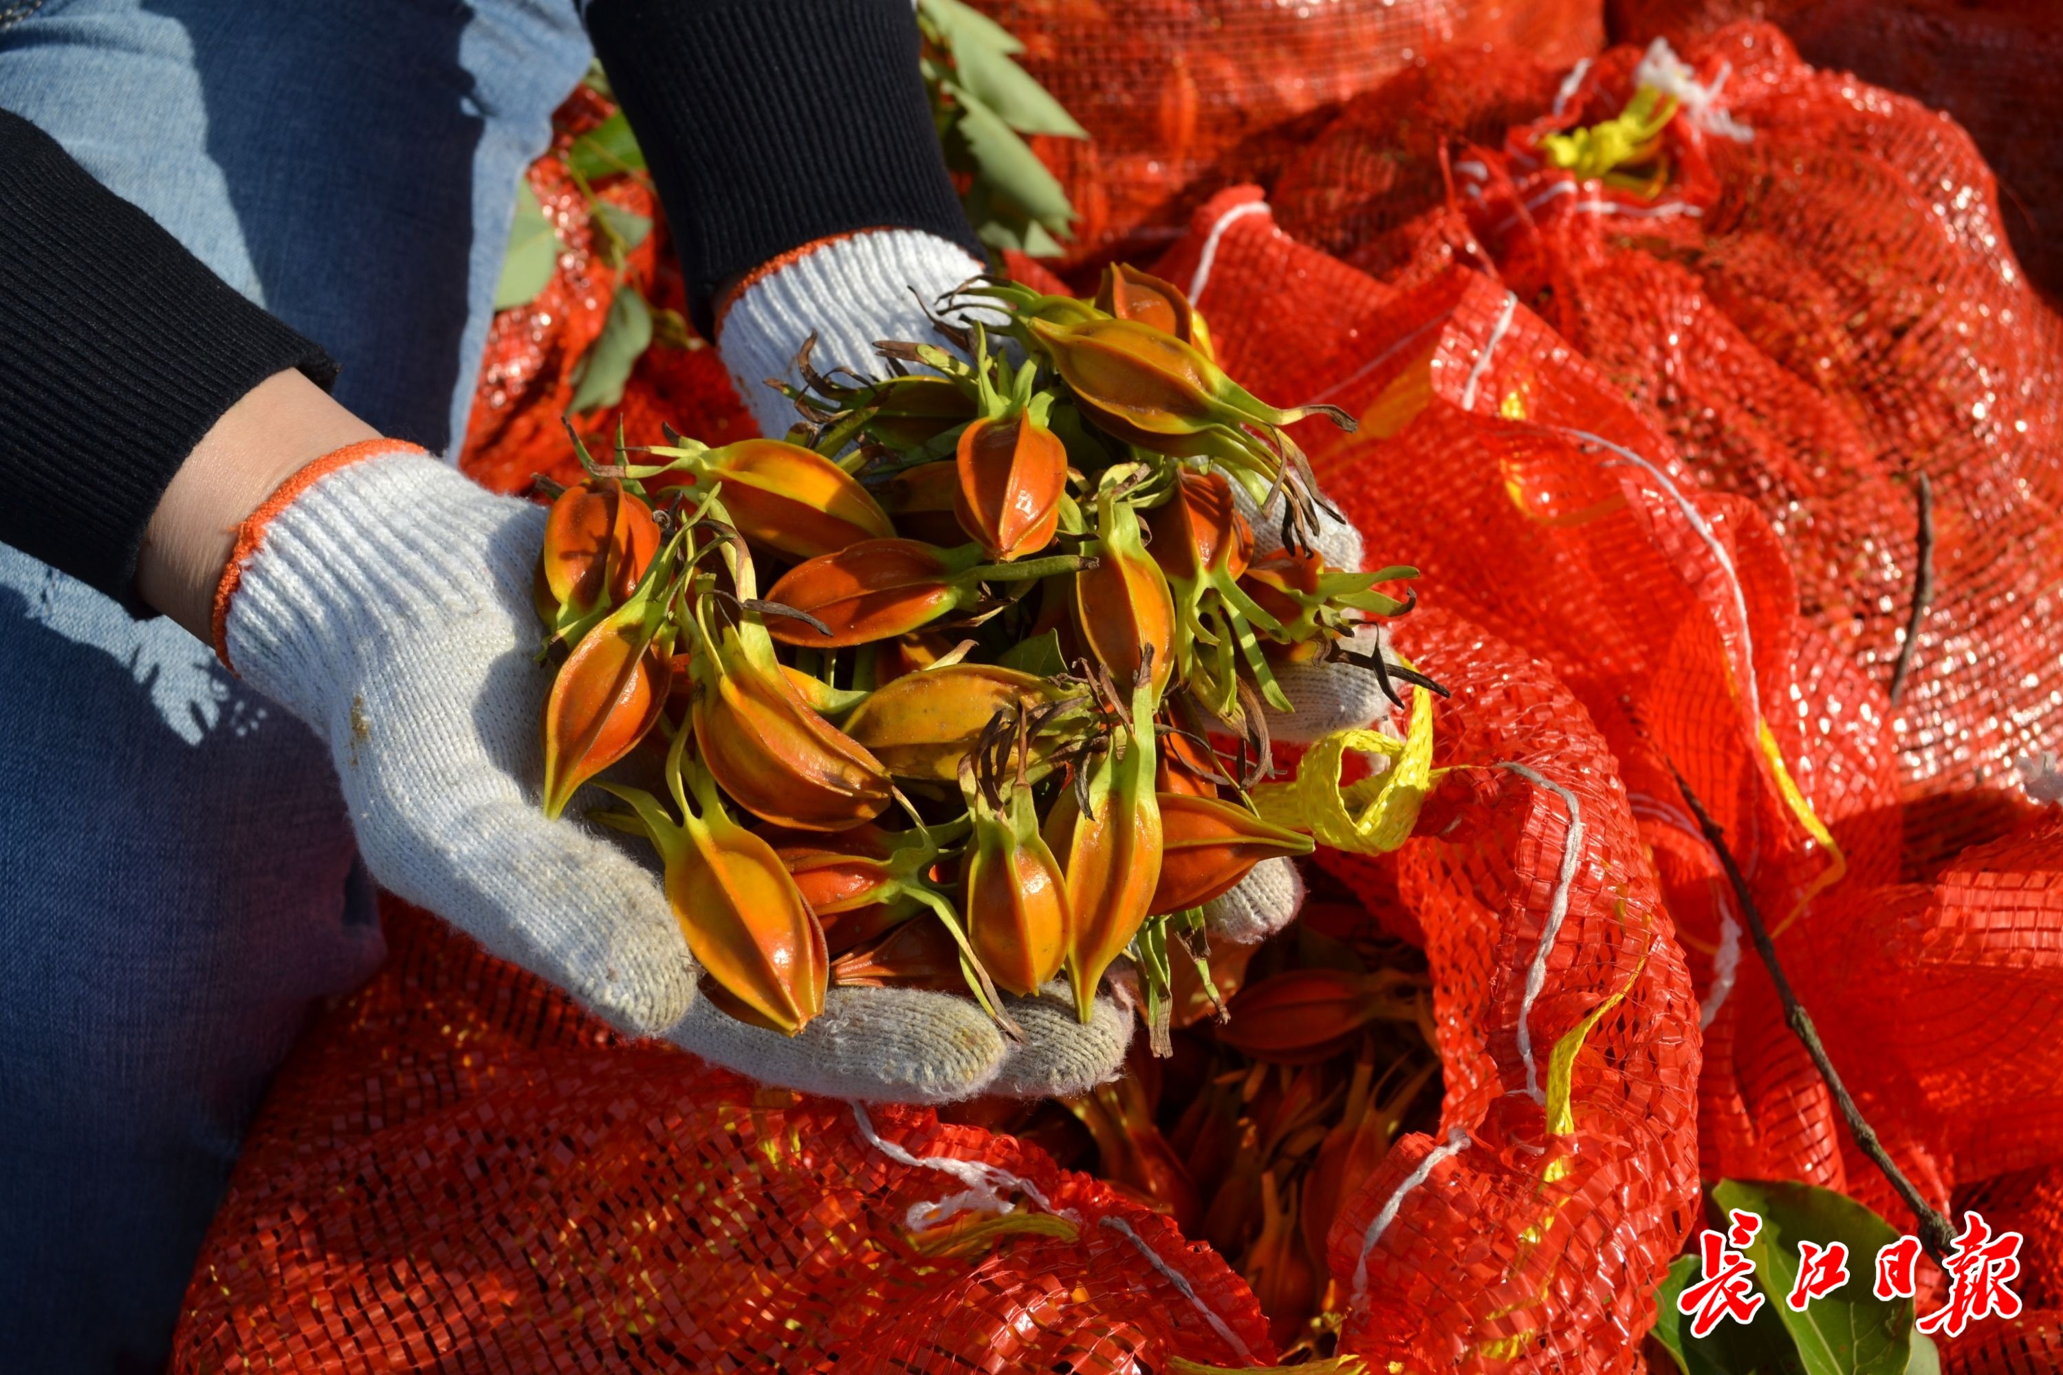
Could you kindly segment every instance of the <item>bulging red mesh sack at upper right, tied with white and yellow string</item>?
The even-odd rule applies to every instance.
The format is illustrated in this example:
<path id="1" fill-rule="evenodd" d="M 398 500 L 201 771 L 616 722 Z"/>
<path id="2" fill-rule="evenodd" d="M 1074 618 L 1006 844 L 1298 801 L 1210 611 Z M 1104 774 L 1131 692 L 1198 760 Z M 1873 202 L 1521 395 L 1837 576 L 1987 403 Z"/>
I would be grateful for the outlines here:
<path id="1" fill-rule="evenodd" d="M 1335 247 L 1417 276 L 1446 262 L 1504 276 L 1698 482 L 1768 515 L 1807 621 L 1879 684 L 1914 592 L 1912 476 L 1933 478 L 1935 598 L 1890 722 L 1906 874 L 1925 878 L 2018 820 L 2011 761 L 2063 736 L 2046 709 L 2063 691 L 2046 610 L 2063 573 L 2063 328 L 2022 278 L 1989 173 L 1952 122 L 1811 70 L 1768 27 L 1685 56 L 1708 82 L 1731 70 L 1731 118 L 1754 136 L 1675 146 L 1688 173 L 1661 198 L 1527 167 L 1531 130 L 1514 130 L 1504 146 L 1452 148 L 1450 196 Z M 1601 58 L 1549 122 L 1615 113 L 1636 58 Z M 1294 233 L 1322 231 L 1318 192 L 1380 142 L 1355 124 L 1378 101 L 1283 173 Z"/>

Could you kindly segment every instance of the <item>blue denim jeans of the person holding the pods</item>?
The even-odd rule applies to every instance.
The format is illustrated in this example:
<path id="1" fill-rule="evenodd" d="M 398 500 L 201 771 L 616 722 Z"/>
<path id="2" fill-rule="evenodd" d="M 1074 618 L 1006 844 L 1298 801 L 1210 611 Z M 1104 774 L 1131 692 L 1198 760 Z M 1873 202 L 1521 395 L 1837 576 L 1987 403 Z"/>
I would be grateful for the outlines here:
<path id="1" fill-rule="evenodd" d="M 574 0 L 0 25 L 0 107 L 322 342 L 357 414 L 462 439 L 516 179 L 588 62 Z M 371 888 L 299 722 L 4 546 L 0 761 L 0 1371 L 157 1369 L 266 1082 L 382 959 Z"/>

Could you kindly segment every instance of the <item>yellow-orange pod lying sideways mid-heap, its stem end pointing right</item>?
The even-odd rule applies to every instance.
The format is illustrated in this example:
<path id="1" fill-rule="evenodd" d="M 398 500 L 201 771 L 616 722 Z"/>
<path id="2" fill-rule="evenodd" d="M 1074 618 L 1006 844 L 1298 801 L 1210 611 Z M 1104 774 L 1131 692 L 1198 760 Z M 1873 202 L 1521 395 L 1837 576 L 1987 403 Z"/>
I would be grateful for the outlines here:
<path id="1" fill-rule="evenodd" d="M 996 711 L 1058 695 L 1046 678 L 996 664 L 947 664 L 875 689 L 846 734 L 895 777 L 953 781 Z"/>

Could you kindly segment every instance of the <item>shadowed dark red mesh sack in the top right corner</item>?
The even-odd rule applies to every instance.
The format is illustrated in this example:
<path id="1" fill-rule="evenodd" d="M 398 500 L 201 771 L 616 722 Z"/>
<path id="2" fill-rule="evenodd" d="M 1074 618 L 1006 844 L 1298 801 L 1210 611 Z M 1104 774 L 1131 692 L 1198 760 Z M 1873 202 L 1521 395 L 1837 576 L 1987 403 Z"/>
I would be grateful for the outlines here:
<path id="1" fill-rule="evenodd" d="M 1737 19 L 1778 25 L 1813 66 L 1910 95 L 1970 132 L 1999 179 L 2022 266 L 2063 293 L 2063 25 L 2049 0 L 1611 0 L 1613 39 L 1688 45 Z"/>

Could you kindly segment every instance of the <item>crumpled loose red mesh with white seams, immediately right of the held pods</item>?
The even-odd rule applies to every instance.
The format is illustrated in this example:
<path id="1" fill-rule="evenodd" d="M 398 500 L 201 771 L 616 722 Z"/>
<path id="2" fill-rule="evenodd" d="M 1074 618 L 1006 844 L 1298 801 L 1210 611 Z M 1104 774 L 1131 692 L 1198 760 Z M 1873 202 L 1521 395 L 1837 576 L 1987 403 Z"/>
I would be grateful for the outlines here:
<path id="1" fill-rule="evenodd" d="M 1362 418 L 1353 437 L 1302 439 L 1368 557 L 1421 569 L 1423 610 L 1397 643 L 1454 689 L 1440 763 L 1483 771 L 1475 800 L 1440 812 L 1454 831 L 1436 825 L 1386 864 L 1320 858 L 1355 891 L 1395 895 L 1405 934 L 1423 938 L 1442 1130 L 1463 1134 L 1444 1144 L 1465 1142 L 1459 1156 L 1432 1138 L 1399 1146 L 1347 1204 L 1333 1278 L 1368 1307 L 1345 1340 L 1436 1369 L 1617 1369 L 1632 1354 L 1613 1334 L 1644 1330 L 1655 1266 L 1696 1212 L 1698 1008 L 1648 969 L 1681 969 L 1675 913 L 1716 1012 L 1739 952 L 1673 771 L 1727 825 L 1770 909 L 1828 880 L 1813 827 L 1834 827 L 1875 880 L 1896 878 L 1881 738 L 1807 744 L 1795 693 L 1801 676 L 1848 699 L 1867 684 L 1799 623 L 1754 507 L 1700 493 L 1669 441 L 1485 276 L 1448 270 L 1397 293 L 1279 233 L 1254 192 L 1205 206 L 1157 272 L 1221 322 L 1225 365 L 1256 392 Z M 1537 777 L 1500 769 L 1512 763 Z M 1733 963 L 1712 961 L 1729 932 Z M 1545 1134 L 1527 1113 L 1558 1111 L 1547 1047 L 1593 1014 L 1568 1115 Z M 1558 1200 L 1568 1233 L 1545 1229 L 1551 1241 L 1527 1210 L 1543 1146 L 1603 1171 L 1593 1196 Z M 1473 1165 L 1477 1150 L 1502 1169 Z"/>

